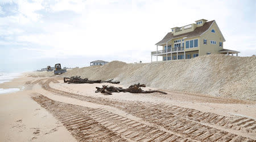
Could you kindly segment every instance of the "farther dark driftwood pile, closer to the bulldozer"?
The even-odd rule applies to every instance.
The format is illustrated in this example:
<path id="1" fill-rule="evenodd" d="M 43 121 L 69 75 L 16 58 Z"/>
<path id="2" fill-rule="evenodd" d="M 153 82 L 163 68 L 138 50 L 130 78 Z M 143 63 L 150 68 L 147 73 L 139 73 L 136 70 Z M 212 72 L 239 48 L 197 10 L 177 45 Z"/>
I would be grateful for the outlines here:
<path id="1" fill-rule="evenodd" d="M 112 80 L 108 80 L 108 81 L 101 81 L 101 80 L 88 80 L 88 78 L 81 78 L 81 76 L 77 77 L 64 77 L 64 82 L 65 83 L 114 83 L 114 84 L 118 84 L 120 83 L 119 81 L 118 82 L 114 82 Z"/>

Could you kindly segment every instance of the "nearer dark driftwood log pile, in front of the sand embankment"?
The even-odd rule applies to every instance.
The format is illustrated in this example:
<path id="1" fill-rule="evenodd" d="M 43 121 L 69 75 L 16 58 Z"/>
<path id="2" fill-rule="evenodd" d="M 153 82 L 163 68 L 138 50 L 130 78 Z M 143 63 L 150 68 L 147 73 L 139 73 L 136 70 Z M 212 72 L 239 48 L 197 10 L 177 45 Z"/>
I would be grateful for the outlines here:
<path id="1" fill-rule="evenodd" d="M 129 93 L 162 93 L 162 94 L 167 94 L 164 91 L 159 91 L 159 90 L 148 90 L 148 91 L 144 91 L 141 89 L 141 87 L 146 87 L 146 85 L 144 84 L 134 84 L 129 86 L 127 89 L 123 89 L 122 87 L 114 87 L 114 86 L 110 86 L 108 87 L 108 85 L 103 85 L 102 87 L 96 87 L 96 93 L 102 93 L 102 94 L 106 94 L 106 95 L 112 95 L 113 92 L 129 92 Z"/>

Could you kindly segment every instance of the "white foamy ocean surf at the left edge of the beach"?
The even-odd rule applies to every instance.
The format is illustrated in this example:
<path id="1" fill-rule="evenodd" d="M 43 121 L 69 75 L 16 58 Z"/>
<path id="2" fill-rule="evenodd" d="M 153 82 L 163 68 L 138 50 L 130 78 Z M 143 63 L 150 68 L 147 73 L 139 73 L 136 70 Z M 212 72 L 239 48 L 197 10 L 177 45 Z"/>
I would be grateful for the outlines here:
<path id="1" fill-rule="evenodd" d="M 5 72 L 0 72 L 0 84 L 4 82 L 9 82 L 13 80 L 14 78 L 18 78 L 21 74 L 20 73 L 5 73 Z M 13 93 L 15 91 L 19 91 L 19 88 L 8 88 L 8 89 L 3 89 L 0 88 L 0 94 L 6 94 L 6 93 Z"/>

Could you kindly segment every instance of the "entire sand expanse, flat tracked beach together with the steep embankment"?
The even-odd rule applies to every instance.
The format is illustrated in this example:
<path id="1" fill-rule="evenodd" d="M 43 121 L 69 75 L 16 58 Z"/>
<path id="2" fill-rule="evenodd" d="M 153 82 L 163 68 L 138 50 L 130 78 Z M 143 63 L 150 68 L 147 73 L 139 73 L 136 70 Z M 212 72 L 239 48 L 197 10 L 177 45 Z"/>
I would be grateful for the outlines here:
<path id="1" fill-rule="evenodd" d="M 0 95 L 0 141 L 256 140 L 255 101 L 200 94 L 255 99 L 255 57 L 210 55 L 148 64 L 113 61 L 48 77 L 52 74 L 26 73 L 0 85 L 24 86 Z M 95 87 L 113 84 L 63 82 L 63 76 L 74 75 L 115 78 L 122 85 L 114 85 L 120 87 L 146 83 L 151 87 L 145 89 L 165 88 L 167 94 L 104 95 L 95 93 Z"/>

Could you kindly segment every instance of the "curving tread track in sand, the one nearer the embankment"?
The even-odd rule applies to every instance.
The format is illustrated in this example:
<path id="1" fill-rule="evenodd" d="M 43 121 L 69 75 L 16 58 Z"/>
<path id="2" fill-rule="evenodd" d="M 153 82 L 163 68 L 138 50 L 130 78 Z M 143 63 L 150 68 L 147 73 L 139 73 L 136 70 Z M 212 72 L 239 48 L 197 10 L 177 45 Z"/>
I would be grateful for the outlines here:
<path id="1" fill-rule="evenodd" d="M 232 128 L 234 130 L 255 134 L 255 120 L 252 119 L 240 116 L 226 117 L 209 112 L 193 110 L 191 108 L 167 106 L 150 102 L 115 101 L 113 99 L 86 97 L 84 95 L 53 89 L 49 87 L 49 82 L 51 82 L 51 80 L 43 83 L 43 88 L 48 91 L 80 99 L 82 101 L 117 107 L 134 116 L 143 118 L 147 122 L 158 124 L 167 130 L 186 135 L 191 139 L 200 141 L 252 140 L 236 135 L 235 133 L 227 132 L 225 129 L 224 131 L 217 130 L 216 128 L 210 127 L 210 125 L 217 125 L 223 128 Z M 206 126 L 201 123 L 206 124 Z"/>

